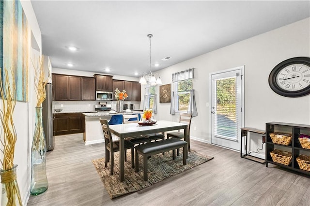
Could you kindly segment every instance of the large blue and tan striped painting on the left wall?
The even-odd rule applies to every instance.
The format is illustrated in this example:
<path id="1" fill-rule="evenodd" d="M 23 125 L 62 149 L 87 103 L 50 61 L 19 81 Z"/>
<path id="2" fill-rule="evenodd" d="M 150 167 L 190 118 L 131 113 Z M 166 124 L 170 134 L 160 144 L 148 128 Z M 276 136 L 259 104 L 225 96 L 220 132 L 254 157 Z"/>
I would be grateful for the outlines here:
<path id="1" fill-rule="evenodd" d="M 30 53 L 28 22 L 19 0 L 0 0 L 0 68 L 14 70 L 16 100 L 27 102 Z M 9 72 L 9 74 L 11 74 Z"/>

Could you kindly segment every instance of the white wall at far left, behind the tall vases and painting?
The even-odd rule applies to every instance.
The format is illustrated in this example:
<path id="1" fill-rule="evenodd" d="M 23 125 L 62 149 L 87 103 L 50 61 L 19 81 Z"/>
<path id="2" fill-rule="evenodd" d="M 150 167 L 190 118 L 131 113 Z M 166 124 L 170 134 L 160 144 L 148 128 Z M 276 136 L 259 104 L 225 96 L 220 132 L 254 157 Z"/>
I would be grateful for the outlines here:
<path id="1" fill-rule="evenodd" d="M 20 1 L 28 19 L 29 37 L 31 32 L 33 40 L 41 50 L 41 31 L 34 15 L 31 1 Z M 31 41 L 29 42 L 31 46 Z M 30 50 L 30 58 L 37 59 L 40 51 Z M 17 182 L 20 190 L 23 205 L 27 205 L 30 195 L 31 179 L 31 144 L 35 124 L 35 104 L 36 95 L 34 92 L 34 70 L 31 61 L 29 61 L 29 102 L 17 102 L 14 110 L 14 124 L 16 127 L 17 141 L 15 146 L 14 163 L 17 167 Z"/>

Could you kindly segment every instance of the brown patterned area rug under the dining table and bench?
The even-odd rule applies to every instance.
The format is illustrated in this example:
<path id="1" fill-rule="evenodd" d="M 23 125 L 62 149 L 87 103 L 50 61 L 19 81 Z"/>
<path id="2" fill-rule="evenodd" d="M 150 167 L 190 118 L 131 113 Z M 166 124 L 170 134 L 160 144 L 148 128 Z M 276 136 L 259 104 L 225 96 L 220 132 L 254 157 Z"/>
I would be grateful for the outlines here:
<path id="1" fill-rule="evenodd" d="M 140 191 L 166 178 L 180 174 L 197 165 L 213 159 L 206 155 L 202 155 L 196 151 L 188 152 L 186 165 L 183 165 L 182 150 L 180 156 L 172 160 L 172 151 L 165 152 L 165 155 L 157 154 L 148 159 L 148 180 L 143 180 L 143 158 L 139 155 L 139 172 L 136 173 L 131 168 L 131 152 L 127 151 L 127 162 L 124 164 L 124 181 L 120 181 L 119 176 L 119 153 L 114 153 L 114 173 L 110 174 L 110 164 L 105 167 L 105 158 L 92 160 L 99 177 L 101 178 L 105 188 L 107 189 L 111 199 L 121 195 Z"/>

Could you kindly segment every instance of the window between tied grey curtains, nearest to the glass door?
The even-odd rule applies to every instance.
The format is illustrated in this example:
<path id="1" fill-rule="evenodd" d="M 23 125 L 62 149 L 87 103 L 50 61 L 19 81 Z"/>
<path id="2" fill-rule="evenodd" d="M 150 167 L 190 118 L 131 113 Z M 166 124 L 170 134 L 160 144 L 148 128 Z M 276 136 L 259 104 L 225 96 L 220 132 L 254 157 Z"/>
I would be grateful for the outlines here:
<path id="1" fill-rule="evenodd" d="M 193 88 L 193 79 L 174 82 L 174 110 L 187 112 L 189 106 L 190 90 Z"/>

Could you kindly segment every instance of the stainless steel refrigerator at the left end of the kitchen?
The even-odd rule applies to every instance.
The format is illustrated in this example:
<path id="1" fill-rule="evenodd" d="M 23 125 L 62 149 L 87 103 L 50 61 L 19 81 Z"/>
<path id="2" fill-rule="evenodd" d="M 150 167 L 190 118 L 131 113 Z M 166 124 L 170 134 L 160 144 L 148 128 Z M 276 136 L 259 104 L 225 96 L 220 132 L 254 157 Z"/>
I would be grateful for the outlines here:
<path id="1" fill-rule="evenodd" d="M 43 129 L 45 134 L 45 140 L 47 142 L 47 151 L 54 149 L 54 137 L 53 137 L 53 108 L 52 108 L 52 84 L 47 83 L 45 86 L 47 91 L 47 98 L 42 103 L 42 117 L 43 117 Z"/>

